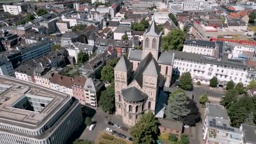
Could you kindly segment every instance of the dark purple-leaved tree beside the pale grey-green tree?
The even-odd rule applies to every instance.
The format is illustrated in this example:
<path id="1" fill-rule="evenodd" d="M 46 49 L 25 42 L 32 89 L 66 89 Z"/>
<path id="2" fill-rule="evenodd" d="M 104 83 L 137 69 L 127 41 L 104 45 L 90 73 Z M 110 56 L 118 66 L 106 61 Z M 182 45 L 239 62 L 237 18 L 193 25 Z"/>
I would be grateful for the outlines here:
<path id="1" fill-rule="evenodd" d="M 187 98 L 187 101 L 189 101 L 189 104 L 185 107 L 189 109 L 189 114 L 183 116 L 181 120 L 185 125 L 195 126 L 195 124 L 199 122 L 200 112 L 195 101 L 189 98 Z"/>

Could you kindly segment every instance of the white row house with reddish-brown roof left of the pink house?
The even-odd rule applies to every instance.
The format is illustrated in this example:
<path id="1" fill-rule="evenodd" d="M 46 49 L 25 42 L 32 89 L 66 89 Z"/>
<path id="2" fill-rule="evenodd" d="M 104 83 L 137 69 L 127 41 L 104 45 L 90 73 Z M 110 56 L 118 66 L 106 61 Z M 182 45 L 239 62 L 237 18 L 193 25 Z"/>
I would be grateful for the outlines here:
<path id="1" fill-rule="evenodd" d="M 74 79 L 65 75 L 53 74 L 50 79 L 50 88 L 54 91 L 66 93 L 69 96 L 73 96 L 72 85 Z"/>

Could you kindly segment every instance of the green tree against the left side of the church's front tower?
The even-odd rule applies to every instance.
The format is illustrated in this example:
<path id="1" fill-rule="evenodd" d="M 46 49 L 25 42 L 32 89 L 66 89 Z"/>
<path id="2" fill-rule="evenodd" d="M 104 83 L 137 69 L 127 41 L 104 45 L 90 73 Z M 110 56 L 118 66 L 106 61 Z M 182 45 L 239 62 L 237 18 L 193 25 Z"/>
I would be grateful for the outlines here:
<path id="1" fill-rule="evenodd" d="M 115 84 L 111 83 L 106 90 L 101 91 L 99 105 L 104 112 L 115 112 Z"/>

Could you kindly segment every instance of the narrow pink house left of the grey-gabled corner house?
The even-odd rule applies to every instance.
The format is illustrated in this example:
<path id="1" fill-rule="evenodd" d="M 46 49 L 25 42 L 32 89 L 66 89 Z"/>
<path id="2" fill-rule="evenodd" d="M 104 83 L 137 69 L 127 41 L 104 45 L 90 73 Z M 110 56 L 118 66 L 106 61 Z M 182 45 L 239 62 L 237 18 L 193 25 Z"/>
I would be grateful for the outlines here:
<path id="1" fill-rule="evenodd" d="M 85 86 L 86 78 L 83 76 L 76 76 L 73 81 L 72 89 L 73 89 L 73 96 L 80 100 L 82 105 L 85 105 L 85 93 L 84 93 L 84 86 Z"/>

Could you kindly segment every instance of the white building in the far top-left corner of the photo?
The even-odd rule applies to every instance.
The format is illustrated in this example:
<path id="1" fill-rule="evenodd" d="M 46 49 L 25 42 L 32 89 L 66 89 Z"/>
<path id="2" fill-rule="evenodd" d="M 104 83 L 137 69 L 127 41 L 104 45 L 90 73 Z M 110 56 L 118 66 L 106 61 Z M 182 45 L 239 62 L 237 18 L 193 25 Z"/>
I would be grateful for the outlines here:
<path id="1" fill-rule="evenodd" d="M 27 3 L 16 3 L 14 5 L 3 5 L 3 11 L 18 15 L 21 11 L 27 10 Z"/>

